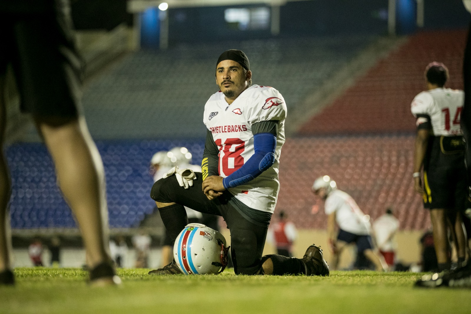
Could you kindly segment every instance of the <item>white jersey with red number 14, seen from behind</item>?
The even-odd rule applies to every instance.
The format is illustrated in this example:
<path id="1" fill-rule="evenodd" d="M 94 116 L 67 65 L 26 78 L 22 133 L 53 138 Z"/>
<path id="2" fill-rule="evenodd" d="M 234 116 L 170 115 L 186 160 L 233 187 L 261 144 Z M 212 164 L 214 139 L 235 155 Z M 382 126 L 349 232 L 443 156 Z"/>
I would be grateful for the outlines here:
<path id="1" fill-rule="evenodd" d="M 463 102 L 463 91 L 436 88 L 430 91 L 422 91 L 415 96 L 411 104 L 411 111 L 414 117 L 417 117 L 417 115 L 430 116 L 430 123 L 435 136 L 463 135 L 460 125 Z M 419 117 L 417 126 L 428 122 L 426 120 L 425 117 Z"/>

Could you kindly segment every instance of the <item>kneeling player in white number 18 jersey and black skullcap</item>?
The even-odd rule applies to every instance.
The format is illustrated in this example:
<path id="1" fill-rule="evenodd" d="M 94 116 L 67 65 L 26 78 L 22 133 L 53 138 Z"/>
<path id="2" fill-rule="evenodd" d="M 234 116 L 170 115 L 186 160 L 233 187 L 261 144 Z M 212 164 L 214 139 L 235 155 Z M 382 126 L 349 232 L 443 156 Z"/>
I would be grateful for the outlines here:
<path id="1" fill-rule="evenodd" d="M 315 245 L 302 259 L 262 257 L 279 191 L 286 104 L 274 88 L 252 85 L 249 60 L 240 50 L 223 52 L 215 70 L 220 91 L 204 108 L 208 132 L 203 173 L 176 169 L 175 175 L 152 187 L 151 197 L 167 232 L 175 240 L 187 224 L 184 206 L 188 206 L 224 218 L 231 233 L 236 274 L 328 275 L 322 251 Z M 172 262 L 150 273 L 181 271 Z"/>

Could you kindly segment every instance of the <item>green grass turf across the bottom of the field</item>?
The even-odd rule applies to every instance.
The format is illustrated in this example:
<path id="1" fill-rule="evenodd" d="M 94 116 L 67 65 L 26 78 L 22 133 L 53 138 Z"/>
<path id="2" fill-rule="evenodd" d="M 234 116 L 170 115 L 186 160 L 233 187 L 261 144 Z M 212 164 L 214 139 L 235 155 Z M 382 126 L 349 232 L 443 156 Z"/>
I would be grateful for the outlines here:
<path id="1" fill-rule="evenodd" d="M 87 286 L 79 269 L 17 268 L 0 286 L 0 313 L 471 313 L 471 289 L 416 289 L 414 273 L 330 277 L 149 276 L 119 271 L 121 287 Z"/>

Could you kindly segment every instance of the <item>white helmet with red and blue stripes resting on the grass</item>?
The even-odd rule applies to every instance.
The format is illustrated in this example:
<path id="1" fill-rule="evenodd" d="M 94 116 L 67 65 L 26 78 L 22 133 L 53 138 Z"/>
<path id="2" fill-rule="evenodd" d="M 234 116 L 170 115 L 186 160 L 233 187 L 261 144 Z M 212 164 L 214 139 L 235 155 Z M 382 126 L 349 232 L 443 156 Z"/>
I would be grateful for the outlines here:
<path id="1" fill-rule="evenodd" d="M 226 268 L 229 247 L 224 236 L 201 223 L 183 228 L 173 246 L 173 257 L 187 275 L 222 273 Z"/>

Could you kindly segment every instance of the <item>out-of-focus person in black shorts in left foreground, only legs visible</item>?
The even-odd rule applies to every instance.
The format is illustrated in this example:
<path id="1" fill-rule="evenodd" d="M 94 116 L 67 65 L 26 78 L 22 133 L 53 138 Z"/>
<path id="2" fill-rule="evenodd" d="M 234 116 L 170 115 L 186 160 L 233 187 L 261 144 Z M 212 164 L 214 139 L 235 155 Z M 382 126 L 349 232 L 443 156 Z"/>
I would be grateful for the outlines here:
<path id="1" fill-rule="evenodd" d="M 0 142 L 6 128 L 6 76 L 16 78 L 22 112 L 31 113 L 56 166 L 59 187 L 79 225 L 89 258 L 90 281 L 113 284 L 107 254 L 103 164 L 81 115 L 81 60 L 74 45 L 67 0 L 0 4 Z M 13 284 L 7 205 L 11 183 L 0 158 L 0 284 Z"/>

